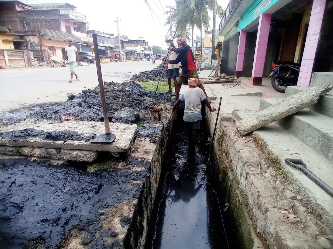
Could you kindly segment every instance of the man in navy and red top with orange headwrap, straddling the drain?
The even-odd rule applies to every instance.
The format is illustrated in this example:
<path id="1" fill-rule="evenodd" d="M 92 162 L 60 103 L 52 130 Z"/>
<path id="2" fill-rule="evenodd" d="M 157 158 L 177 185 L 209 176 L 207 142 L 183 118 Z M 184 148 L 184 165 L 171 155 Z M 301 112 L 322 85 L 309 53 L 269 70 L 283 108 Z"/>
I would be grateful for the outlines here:
<path id="1" fill-rule="evenodd" d="M 175 60 L 166 59 L 166 62 L 171 64 L 177 64 L 181 61 L 181 73 L 177 81 L 176 99 L 179 98 L 180 87 L 185 82 L 185 80 L 189 78 L 197 78 L 198 79 L 197 86 L 201 88 L 207 100 L 210 102 L 210 99 L 208 98 L 203 85 L 199 81 L 199 76 L 196 71 L 194 56 L 191 47 L 186 44 L 186 39 L 184 38 L 178 38 L 177 43 L 179 48 L 175 48 L 173 42 L 171 42 L 172 48 L 169 47 L 171 51 L 174 51 L 178 54 L 177 58 Z"/>

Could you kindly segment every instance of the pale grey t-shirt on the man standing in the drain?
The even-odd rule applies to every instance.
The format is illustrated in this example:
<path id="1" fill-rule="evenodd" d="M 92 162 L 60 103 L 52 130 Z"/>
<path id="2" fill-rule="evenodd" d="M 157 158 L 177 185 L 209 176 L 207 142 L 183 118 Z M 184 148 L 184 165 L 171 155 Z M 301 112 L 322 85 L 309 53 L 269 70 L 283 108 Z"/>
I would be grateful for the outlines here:
<path id="1" fill-rule="evenodd" d="M 185 102 L 185 122 L 196 122 L 198 120 L 202 120 L 201 101 L 205 100 L 205 98 L 205 94 L 198 87 L 189 88 L 179 96 L 179 100 Z"/>

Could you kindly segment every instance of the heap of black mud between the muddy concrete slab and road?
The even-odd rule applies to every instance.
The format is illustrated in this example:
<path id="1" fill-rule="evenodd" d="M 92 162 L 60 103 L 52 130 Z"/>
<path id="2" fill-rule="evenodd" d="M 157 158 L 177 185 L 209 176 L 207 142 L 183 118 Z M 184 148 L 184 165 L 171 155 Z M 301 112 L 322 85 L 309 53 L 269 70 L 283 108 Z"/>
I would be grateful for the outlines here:
<path id="1" fill-rule="evenodd" d="M 139 119 L 139 112 L 146 113 L 148 106 L 170 101 L 169 95 L 147 91 L 134 81 L 104 82 L 104 90 L 108 113 L 109 116 L 114 114 L 114 123 L 134 123 Z M 64 115 L 82 121 L 101 121 L 103 109 L 99 87 L 71 94 L 66 102 L 35 104 L 6 111 L 0 114 L 0 125 L 15 124 L 27 118 L 61 120 Z"/>

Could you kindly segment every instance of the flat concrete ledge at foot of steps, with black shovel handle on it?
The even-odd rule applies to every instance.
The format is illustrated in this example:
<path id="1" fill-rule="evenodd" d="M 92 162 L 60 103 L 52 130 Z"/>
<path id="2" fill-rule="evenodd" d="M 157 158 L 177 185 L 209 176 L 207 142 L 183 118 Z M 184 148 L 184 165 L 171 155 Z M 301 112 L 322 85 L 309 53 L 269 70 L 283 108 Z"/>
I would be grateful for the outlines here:
<path id="1" fill-rule="evenodd" d="M 248 116 L 252 116 L 253 112 L 234 111 L 233 115 L 237 118 L 237 120 L 241 120 Z M 302 159 L 312 173 L 333 188 L 332 161 L 327 160 L 313 148 L 275 123 L 265 125 L 253 133 L 258 134 L 262 139 L 264 139 L 269 149 L 280 158 L 281 166 L 288 175 L 289 180 L 295 184 L 295 187 L 297 186 L 295 189 L 301 192 L 297 195 L 302 195 L 304 199 L 309 198 L 313 204 L 316 203 L 317 205 L 315 206 L 319 208 L 320 214 L 327 221 L 327 226 L 332 227 L 333 198 L 331 198 L 329 194 L 310 180 L 310 178 L 306 175 L 287 165 L 284 162 L 284 159 Z"/>

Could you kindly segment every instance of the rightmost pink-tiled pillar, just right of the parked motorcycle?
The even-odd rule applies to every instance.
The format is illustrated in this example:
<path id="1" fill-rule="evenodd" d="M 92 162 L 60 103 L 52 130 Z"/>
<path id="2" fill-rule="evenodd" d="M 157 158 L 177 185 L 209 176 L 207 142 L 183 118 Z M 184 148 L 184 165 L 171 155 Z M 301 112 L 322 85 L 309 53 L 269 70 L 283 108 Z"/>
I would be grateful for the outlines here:
<path id="1" fill-rule="evenodd" d="M 297 86 L 309 86 L 326 0 L 314 0 Z"/>

